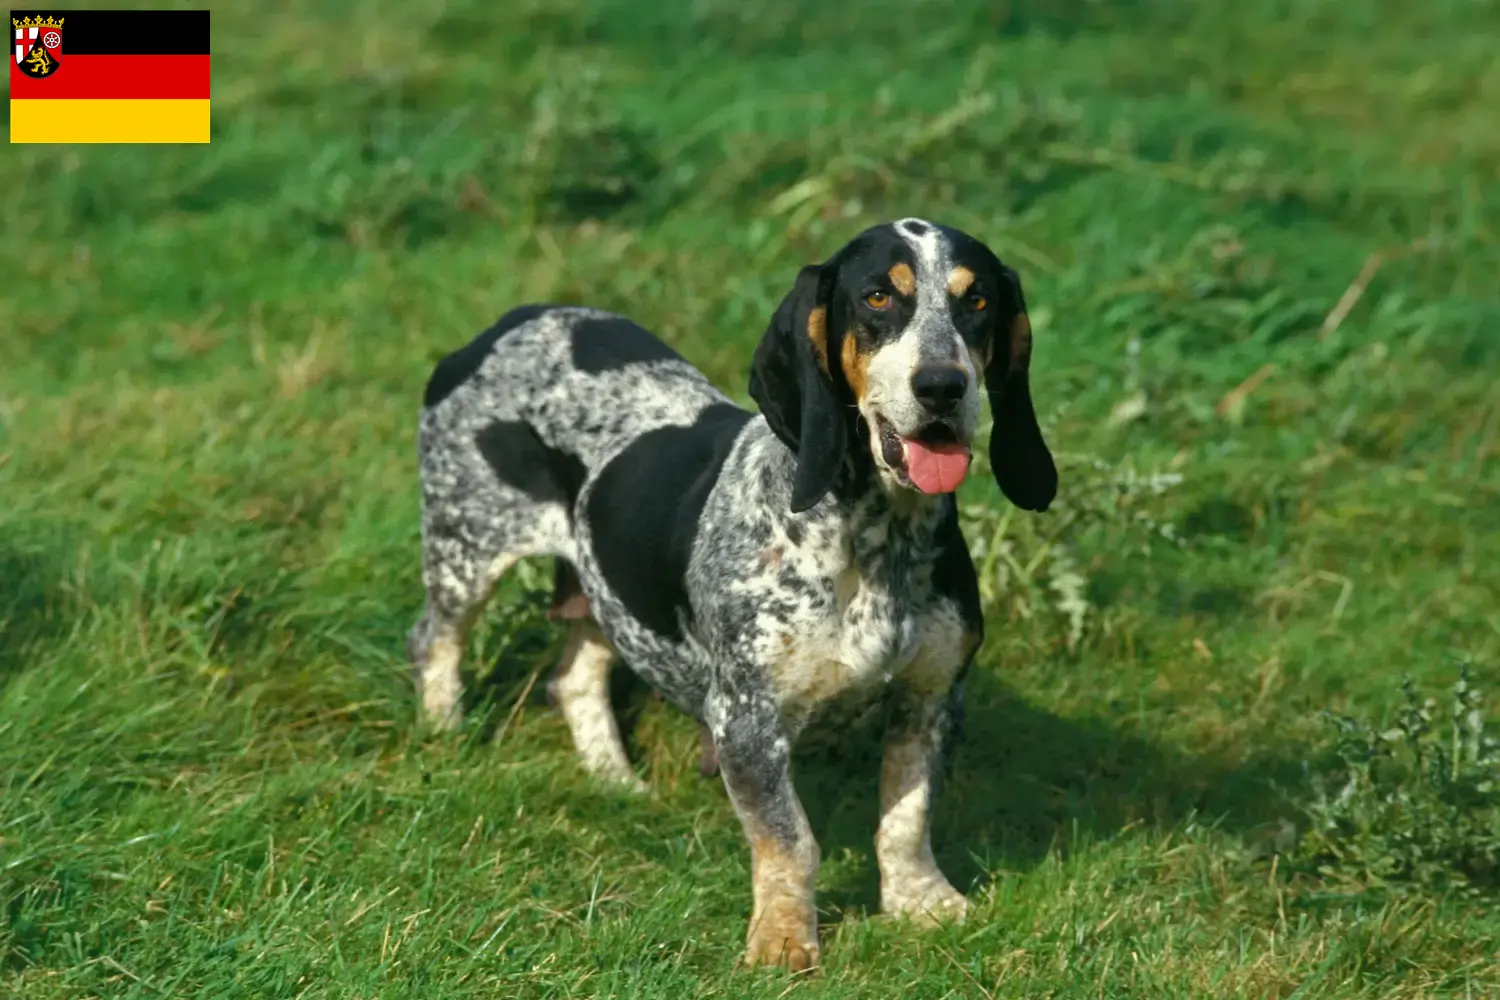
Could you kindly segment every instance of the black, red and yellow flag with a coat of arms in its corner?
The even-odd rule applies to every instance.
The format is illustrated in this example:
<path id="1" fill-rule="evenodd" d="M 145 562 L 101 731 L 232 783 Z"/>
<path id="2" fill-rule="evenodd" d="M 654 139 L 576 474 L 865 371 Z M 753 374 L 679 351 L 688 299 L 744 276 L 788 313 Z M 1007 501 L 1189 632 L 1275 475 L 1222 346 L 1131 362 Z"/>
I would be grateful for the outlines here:
<path id="1" fill-rule="evenodd" d="M 12 10 L 12 142 L 207 142 L 207 10 Z"/>

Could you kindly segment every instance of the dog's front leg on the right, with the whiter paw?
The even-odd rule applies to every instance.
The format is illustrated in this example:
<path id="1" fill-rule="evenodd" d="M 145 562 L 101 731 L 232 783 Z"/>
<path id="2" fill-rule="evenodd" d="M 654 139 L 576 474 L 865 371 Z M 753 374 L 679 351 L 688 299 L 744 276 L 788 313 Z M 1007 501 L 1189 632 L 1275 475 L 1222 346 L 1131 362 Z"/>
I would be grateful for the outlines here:
<path id="1" fill-rule="evenodd" d="M 946 724 L 946 691 L 900 691 L 891 706 L 880 762 L 880 909 L 921 921 L 962 919 L 969 903 L 938 868 L 932 801 Z"/>

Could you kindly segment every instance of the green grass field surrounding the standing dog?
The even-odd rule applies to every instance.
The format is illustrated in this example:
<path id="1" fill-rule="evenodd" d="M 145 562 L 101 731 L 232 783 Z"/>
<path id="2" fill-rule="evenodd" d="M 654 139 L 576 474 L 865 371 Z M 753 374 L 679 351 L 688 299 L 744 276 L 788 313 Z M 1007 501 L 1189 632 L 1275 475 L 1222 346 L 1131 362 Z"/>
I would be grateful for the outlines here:
<path id="1" fill-rule="evenodd" d="M 1497 996 L 1492 895 L 1278 853 L 1324 711 L 1500 679 L 1497 37 L 1456 0 L 220 4 L 210 145 L 0 160 L 0 993 Z M 789 984 L 732 970 L 692 726 L 621 678 L 622 801 L 525 694 L 542 567 L 468 729 L 416 732 L 416 408 L 528 300 L 744 400 L 795 268 L 904 214 L 1022 270 L 1071 483 L 1180 481 L 1077 487 L 1071 603 L 987 580 L 936 817 L 966 925 L 870 915 L 873 744 L 806 754 L 826 969 Z"/>

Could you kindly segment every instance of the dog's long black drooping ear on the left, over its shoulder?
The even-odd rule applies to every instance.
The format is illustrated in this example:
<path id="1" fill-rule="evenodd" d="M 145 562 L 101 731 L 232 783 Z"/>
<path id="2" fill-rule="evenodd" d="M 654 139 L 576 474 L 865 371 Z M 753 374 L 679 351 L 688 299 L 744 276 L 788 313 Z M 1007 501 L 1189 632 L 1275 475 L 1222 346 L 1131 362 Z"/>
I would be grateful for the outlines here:
<path id="1" fill-rule="evenodd" d="M 776 436 L 796 454 L 794 514 L 832 489 L 848 448 L 846 420 L 828 369 L 826 285 L 822 267 L 796 274 L 750 366 L 750 396 Z"/>

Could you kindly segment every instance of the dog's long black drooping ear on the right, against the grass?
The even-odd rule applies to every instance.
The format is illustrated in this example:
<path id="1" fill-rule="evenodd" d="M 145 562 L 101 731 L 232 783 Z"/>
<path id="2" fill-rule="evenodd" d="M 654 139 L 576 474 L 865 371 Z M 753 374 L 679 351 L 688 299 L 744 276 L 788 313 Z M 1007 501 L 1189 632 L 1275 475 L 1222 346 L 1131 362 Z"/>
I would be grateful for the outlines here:
<path id="1" fill-rule="evenodd" d="M 1005 277 L 1016 288 L 1016 316 L 1008 328 L 996 331 L 990 363 L 984 369 L 984 387 L 994 417 L 990 468 L 1006 499 L 1023 510 L 1044 511 L 1058 496 L 1058 466 L 1042 441 L 1030 402 L 1032 334 L 1022 279 L 1010 268 L 1005 268 Z"/>

